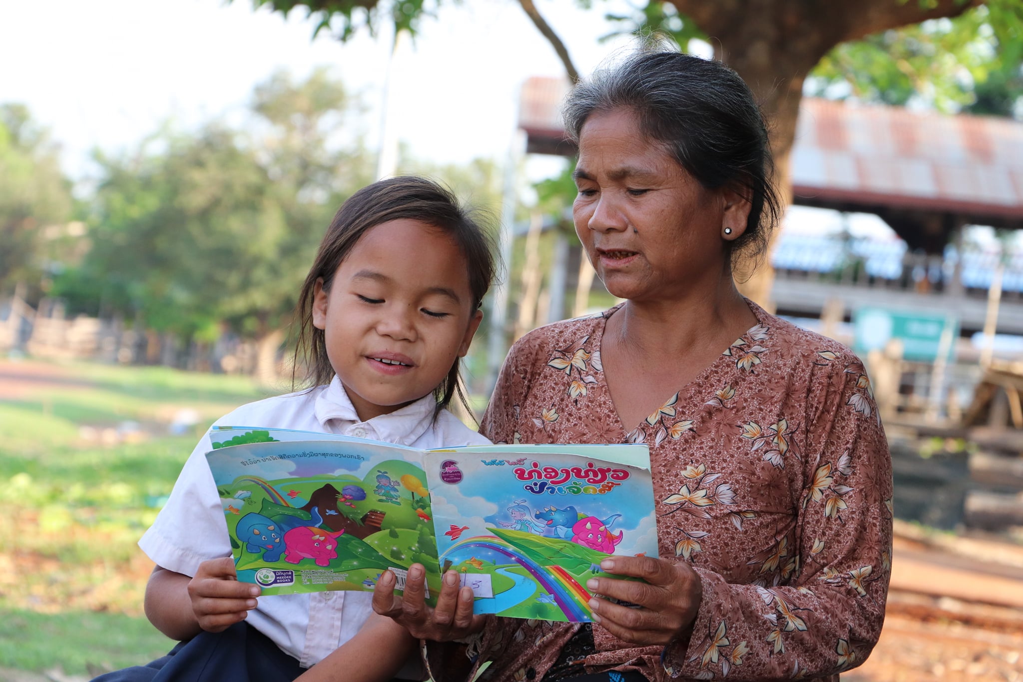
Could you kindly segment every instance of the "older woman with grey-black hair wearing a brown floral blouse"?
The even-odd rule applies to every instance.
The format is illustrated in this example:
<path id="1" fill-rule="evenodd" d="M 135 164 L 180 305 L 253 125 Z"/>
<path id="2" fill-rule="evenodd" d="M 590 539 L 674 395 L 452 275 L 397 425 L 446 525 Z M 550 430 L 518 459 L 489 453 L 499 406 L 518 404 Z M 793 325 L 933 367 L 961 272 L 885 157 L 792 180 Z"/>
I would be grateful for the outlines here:
<path id="1" fill-rule="evenodd" d="M 891 464 L 860 361 L 736 289 L 779 210 L 751 93 L 720 63 L 644 51 L 578 86 L 565 120 L 576 231 L 625 303 L 520 339 L 482 430 L 648 444 L 661 557 L 605 561 L 646 582 L 590 581 L 638 605 L 594 597 L 592 626 L 473 617 L 453 583 L 430 609 L 414 580 L 404 601 L 381 580 L 375 606 L 468 642 L 428 643 L 435 680 L 487 662 L 495 682 L 836 680 L 881 631 Z"/>

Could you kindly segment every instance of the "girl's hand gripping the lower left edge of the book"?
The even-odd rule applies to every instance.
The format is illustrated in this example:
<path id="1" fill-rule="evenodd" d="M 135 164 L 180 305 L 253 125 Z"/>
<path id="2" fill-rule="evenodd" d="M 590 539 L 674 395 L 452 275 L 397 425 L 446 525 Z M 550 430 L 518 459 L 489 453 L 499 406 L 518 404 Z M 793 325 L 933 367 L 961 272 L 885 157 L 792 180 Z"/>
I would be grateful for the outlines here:
<path id="1" fill-rule="evenodd" d="M 221 632 L 244 620 L 256 608 L 261 591 L 257 585 L 238 582 L 230 556 L 203 561 L 188 583 L 192 612 L 198 627 L 208 632 Z"/>

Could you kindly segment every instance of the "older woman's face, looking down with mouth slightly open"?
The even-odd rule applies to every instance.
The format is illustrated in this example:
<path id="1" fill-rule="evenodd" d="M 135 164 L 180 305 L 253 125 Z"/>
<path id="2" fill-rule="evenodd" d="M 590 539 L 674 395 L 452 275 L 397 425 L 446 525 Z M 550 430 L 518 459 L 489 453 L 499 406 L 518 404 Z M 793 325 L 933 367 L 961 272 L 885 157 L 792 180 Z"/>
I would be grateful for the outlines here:
<path id="1" fill-rule="evenodd" d="M 733 239 L 746 221 L 729 202 L 738 197 L 705 189 L 642 134 L 630 110 L 586 120 L 575 177 L 576 233 L 614 295 L 677 299 L 705 290 L 701 283 L 716 286 L 727 274 L 723 229 L 731 227 Z"/>

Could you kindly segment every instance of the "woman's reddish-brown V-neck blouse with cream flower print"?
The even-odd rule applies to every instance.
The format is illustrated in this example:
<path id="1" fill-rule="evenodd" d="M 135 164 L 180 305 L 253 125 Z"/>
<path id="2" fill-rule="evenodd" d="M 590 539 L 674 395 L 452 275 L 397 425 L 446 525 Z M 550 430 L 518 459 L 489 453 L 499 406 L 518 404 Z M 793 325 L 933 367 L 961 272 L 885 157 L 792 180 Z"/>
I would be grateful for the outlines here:
<path id="1" fill-rule="evenodd" d="M 536 329 L 511 349 L 481 430 L 503 443 L 647 443 L 662 558 L 703 599 L 687 646 L 634 647 L 593 625 L 579 674 L 651 680 L 831 679 L 881 632 L 891 569 L 891 461 L 862 363 L 750 304 L 758 324 L 638 425 L 604 381 L 612 309 Z M 665 362 L 670 362 L 665 359 Z M 474 674 L 542 680 L 578 625 L 491 617 Z M 434 679 L 445 658 L 429 644 Z"/>

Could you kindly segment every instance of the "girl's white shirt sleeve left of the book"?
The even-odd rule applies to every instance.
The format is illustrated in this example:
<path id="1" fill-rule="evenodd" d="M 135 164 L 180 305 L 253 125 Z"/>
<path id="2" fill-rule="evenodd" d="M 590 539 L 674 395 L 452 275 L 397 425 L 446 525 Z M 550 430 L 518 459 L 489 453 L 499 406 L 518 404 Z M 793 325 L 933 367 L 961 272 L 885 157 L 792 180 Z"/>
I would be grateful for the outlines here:
<path id="1" fill-rule="evenodd" d="M 167 504 L 138 545 L 168 571 L 194 576 L 207 559 L 230 556 L 231 545 L 217 486 L 206 461 L 209 431 L 192 450 Z"/>

